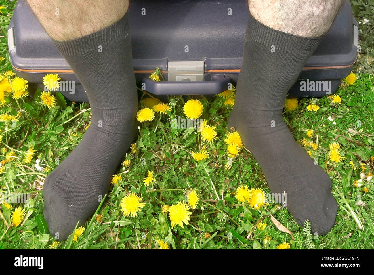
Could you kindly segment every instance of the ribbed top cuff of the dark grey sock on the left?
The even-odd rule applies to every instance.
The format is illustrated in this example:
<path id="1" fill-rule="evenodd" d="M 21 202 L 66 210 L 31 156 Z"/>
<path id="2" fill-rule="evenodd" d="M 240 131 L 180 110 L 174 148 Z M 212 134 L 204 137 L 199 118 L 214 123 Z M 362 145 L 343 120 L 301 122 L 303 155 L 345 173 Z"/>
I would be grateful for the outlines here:
<path id="1" fill-rule="evenodd" d="M 98 50 L 99 46 L 109 45 L 120 39 L 125 39 L 128 33 L 129 20 L 126 13 L 116 23 L 95 33 L 67 41 L 52 40 L 62 55 L 79 55 L 94 49 Z"/>

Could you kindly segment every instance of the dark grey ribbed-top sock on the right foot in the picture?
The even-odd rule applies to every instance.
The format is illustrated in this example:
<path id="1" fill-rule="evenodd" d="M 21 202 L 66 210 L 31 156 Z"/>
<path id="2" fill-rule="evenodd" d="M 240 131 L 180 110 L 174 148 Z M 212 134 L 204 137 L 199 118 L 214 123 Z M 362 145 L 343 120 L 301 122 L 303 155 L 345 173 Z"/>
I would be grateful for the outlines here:
<path id="1" fill-rule="evenodd" d="M 272 193 L 287 193 L 287 209 L 297 223 L 308 219 L 313 233 L 325 234 L 337 213 L 331 181 L 282 119 L 287 92 L 320 40 L 273 30 L 249 16 L 229 127 L 255 156 Z"/>

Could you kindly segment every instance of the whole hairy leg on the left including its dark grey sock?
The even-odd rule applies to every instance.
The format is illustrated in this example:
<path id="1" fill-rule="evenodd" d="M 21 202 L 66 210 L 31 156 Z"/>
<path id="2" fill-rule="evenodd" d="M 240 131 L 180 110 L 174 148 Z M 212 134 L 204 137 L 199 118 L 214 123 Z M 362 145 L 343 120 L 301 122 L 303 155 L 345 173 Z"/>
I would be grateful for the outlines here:
<path id="1" fill-rule="evenodd" d="M 43 187 L 50 234 L 65 240 L 108 193 L 134 142 L 138 98 L 131 37 L 122 0 L 28 0 L 89 98 L 91 125 Z"/>

